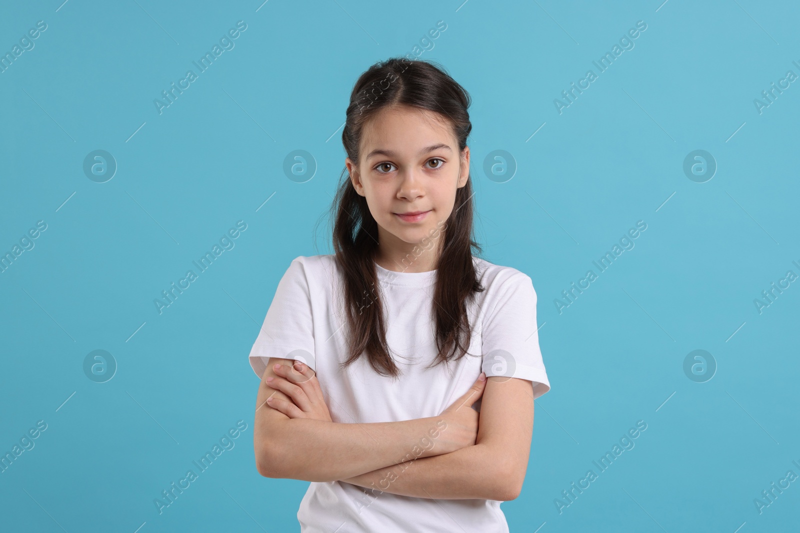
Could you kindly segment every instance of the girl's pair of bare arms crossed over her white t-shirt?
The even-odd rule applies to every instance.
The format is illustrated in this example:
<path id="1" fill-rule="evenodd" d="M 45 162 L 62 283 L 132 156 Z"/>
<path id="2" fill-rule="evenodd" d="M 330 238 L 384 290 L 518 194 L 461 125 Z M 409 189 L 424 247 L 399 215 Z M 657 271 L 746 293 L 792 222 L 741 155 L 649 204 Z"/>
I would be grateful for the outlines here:
<path id="1" fill-rule="evenodd" d="M 530 381 L 476 382 L 471 399 L 456 406 L 470 412 L 451 406 L 430 418 L 339 424 L 330 421 L 314 372 L 291 364 L 270 359 L 258 390 L 254 445 L 262 475 L 435 499 L 509 500 L 522 490 L 534 421 Z M 470 405 L 481 393 L 478 415 Z M 470 415 L 479 417 L 472 436 L 462 417 Z"/>

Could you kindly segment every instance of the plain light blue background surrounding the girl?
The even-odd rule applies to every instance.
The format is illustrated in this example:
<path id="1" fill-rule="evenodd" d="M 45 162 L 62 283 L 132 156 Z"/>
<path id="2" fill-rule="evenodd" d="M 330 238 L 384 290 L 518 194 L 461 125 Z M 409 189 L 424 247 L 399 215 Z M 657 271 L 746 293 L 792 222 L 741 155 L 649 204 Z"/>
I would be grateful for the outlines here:
<path id="1" fill-rule="evenodd" d="M 0 451 L 48 424 L 0 474 L 2 529 L 298 531 L 307 483 L 254 467 L 247 355 L 290 261 L 330 253 L 355 80 L 439 20 L 421 57 L 474 98 L 478 239 L 533 279 L 552 385 L 522 495 L 502 503 L 511 531 L 797 527 L 800 481 L 754 505 L 800 475 L 800 286 L 761 314 L 753 302 L 800 274 L 800 87 L 753 102 L 800 74 L 791 2 L 61 2 L 0 7 L 3 54 L 48 26 L 0 74 L 0 252 L 48 225 L 0 274 Z M 154 98 L 239 20 L 234 49 L 159 115 Z M 554 98 L 640 20 L 634 49 L 559 114 Z M 118 163 L 106 183 L 82 170 L 95 149 Z M 318 165 L 305 183 L 282 170 L 295 149 Z M 518 165 L 505 183 L 482 170 L 495 149 Z M 705 183 L 682 171 L 695 149 L 718 164 Z M 234 249 L 159 315 L 154 298 L 239 220 Z M 639 220 L 635 248 L 559 314 Z M 118 363 L 106 383 L 82 370 L 95 349 Z M 717 361 L 706 383 L 683 372 L 694 349 Z M 234 449 L 158 515 L 154 498 L 237 420 Z M 637 420 L 634 449 L 559 514 Z"/>

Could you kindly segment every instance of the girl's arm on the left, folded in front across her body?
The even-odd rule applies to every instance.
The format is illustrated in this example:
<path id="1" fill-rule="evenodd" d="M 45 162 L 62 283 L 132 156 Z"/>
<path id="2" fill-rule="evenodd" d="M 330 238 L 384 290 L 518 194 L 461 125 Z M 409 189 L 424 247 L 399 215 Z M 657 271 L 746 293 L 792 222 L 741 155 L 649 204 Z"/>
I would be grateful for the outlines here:
<path id="1" fill-rule="evenodd" d="M 270 358 L 258 388 L 254 420 L 254 450 L 258 472 L 270 478 L 336 481 L 388 467 L 404 460 L 441 455 L 475 444 L 478 400 L 485 381 L 477 381 L 462 398 L 440 416 L 400 422 L 343 424 L 313 418 L 290 417 L 279 411 L 292 397 L 266 384 L 267 377 L 281 379 L 275 364 L 291 368 L 294 360 Z M 282 388 L 301 393 L 311 402 L 323 400 L 314 372 L 282 372 Z M 304 376 L 304 374 L 306 376 Z M 312 396 L 318 397 L 315 399 Z M 278 408 L 266 403 L 278 399 Z M 298 404 L 299 402 L 294 402 Z M 284 404 L 286 405 L 286 404 Z"/>

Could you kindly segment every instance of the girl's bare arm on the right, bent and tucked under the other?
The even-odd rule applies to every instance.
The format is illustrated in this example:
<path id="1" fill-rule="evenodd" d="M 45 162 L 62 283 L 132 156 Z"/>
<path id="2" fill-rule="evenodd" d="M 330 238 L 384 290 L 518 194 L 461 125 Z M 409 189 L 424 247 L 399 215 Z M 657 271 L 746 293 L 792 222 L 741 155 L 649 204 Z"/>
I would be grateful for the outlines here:
<path id="1" fill-rule="evenodd" d="M 340 481 L 417 498 L 515 499 L 528 467 L 534 428 L 532 392 L 529 380 L 490 376 L 474 446 Z"/>

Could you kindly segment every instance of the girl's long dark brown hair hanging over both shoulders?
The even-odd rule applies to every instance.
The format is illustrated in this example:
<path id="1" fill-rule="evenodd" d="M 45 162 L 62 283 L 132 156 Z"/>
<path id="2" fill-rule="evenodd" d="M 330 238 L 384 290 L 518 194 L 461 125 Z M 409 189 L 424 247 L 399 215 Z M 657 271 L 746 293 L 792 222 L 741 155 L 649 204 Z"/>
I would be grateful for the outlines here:
<path id="1" fill-rule="evenodd" d="M 358 78 L 350 93 L 342 144 L 358 165 L 359 146 L 364 126 L 375 113 L 389 105 L 406 105 L 439 113 L 449 121 L 458 140 L 459 153 L 466 147 L 472 124 L 467 109 L 470 95 L 435 62 L 390 58 L 377 62 Z M 456 189 L 455 205 L 443 235 L 439 235 L 433 316 L 436 322 L 435 364 L 459 360 L 470 346 L 471 330 L 467 304 L 475 292 L 484 288 L 473 264 L 481 247 L 473 239 L 472 180 Z M 344 307 L 349 326 L 349 358 L 344 366 L 362 353 L 375 372 L 397 377 L 400 370 L 386 343 L 386 324 L 380 299 L 374 258 L 378 251 L 378 223 L 370 214 L 366 198 L 360 196 L 342 172 L 330 209 L 335 217 L 333 244 L 335 259 L 343 274 Z M 406 257 L 407 258 L 407 257 Z M 413 258 L 412 258 L 413 261 Z"/>

